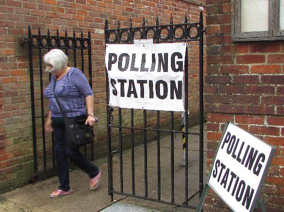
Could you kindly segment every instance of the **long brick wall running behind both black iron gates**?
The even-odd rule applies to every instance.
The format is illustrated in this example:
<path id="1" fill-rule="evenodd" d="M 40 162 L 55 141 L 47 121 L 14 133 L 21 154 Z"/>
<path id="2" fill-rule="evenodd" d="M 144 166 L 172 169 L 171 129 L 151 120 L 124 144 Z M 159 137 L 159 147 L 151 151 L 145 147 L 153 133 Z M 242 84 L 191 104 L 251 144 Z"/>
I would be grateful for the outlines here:
<path id="1" fill-rule="evenodd" d="M 156 15 L 160 24 L 168 24 L 171 13 L 174 23 L 183 22 L 185 13 L 190 22 L 197 22 L 204 3 L 205 0 L 0 0 L 0 191 L 22 185 L 33 172 L 28 58 L 16 56 L 16 36 L 27 35 L 29 25 L 32 34 L 37 34 L 39 27 L 41 35 L 47 34 L 48 28 L 51 35 L 58 29 L 60 35 L 64 36 L 66 30 L 71 37 L 73 30 L 76 36 L 83 31 L 84 37 L 91 32 L 95 113 L 100 118 L 96 150 L 101 151 L 97 156 L 106 151 L 105 19 L 110 28 L 117 27 L 118 19 L 121 26 L 128 26 L 130 17 L 133 26 L 142 25 L 143 17 L 146 25 L 152 25 Z M 189 108 L 194 115 L 198 113 L 197 42 L 189 46 L 189 67 Z M 154 115 L 149 116 L 149 121 L 154 119 Z M 166 121 L 168 116 L 161 118 Z M 41 131 L 40 125 L 37 131 Z"/>

